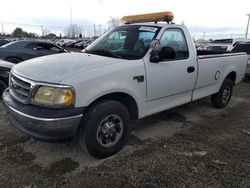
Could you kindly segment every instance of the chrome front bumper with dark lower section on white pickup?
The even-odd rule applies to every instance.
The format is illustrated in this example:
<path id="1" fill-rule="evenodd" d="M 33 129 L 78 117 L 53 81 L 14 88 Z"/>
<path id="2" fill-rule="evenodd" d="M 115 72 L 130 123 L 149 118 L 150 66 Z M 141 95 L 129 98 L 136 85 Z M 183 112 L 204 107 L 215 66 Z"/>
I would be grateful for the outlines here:
<path id="1" fill-rule="evenodd" d="M 13 103 L 16 101 L 11 98 L 8 89 L 3 93 L 3 102 L 12 125 L 43 141 L 55 142 L 74 138 L 82 119 L 82 114 L 60 118 L 43 118 L 23 113 L 14 107 Z"/>

